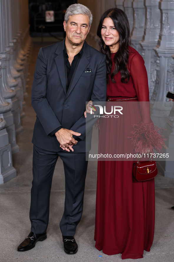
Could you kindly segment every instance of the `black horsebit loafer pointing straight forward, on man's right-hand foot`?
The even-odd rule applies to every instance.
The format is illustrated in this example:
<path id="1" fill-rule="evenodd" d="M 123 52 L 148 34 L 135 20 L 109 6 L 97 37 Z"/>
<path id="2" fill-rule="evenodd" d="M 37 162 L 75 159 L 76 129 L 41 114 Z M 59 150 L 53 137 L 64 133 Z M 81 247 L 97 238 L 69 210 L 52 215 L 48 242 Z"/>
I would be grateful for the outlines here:
<path id="1" fill-rule="evenodd" d="M 63 248 L 64 248 L 65 253 L 70 254 L 70 255 L 77 253 L 78 245 L 74 237 L 62 235 L 62 238 L 63 238 Z"/>

